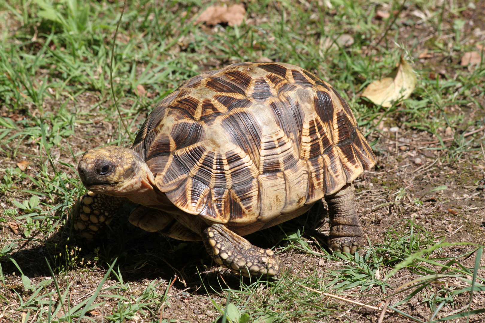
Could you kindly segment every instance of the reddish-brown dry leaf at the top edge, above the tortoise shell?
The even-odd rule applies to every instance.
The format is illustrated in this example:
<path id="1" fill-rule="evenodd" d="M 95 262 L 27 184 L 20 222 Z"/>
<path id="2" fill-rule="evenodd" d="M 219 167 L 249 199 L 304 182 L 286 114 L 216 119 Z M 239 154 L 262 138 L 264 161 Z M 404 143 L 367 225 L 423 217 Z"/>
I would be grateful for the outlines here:
<path id="1" fill-rule="evenodd" d="M 210 6 L 195 20 L 195 23 L 203 22 L 210 26 L 227 23 L 229 26 L 239 26 L 245 14 L 246 9 L 242 4 L 233 4 L 229 7 Z"/>

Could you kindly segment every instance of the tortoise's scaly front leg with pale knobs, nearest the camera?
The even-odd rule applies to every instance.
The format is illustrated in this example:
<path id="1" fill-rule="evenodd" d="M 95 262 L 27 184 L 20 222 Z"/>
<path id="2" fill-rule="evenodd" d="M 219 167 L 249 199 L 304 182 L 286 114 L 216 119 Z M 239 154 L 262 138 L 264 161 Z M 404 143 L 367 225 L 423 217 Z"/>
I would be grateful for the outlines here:
<path id="1" fill-rule="evenodd" d="M 270 249 L 253 246 L 246 239 L 222 224 L 213 224 L 202 231 L 204 246 L 219 265 L 241 271 L 242 275 L 278 277 L 284 264 Z"/>

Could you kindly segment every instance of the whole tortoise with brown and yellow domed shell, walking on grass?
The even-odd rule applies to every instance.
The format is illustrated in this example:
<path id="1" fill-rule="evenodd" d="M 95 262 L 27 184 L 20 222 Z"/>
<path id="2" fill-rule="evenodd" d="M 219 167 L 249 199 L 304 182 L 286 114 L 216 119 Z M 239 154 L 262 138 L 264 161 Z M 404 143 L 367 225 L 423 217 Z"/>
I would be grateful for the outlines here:
<path id="1" fill-rule="evenodd" d="M 362 241 L 352 182 L 375 163 L 346 101 L 291 64 L 241 62 L 202 73 L 167 95 L 128 148 L 88 150 L 89 190 L 74 229 L 92 240 L 127 200 L 129 222 L 180 240 L 202 240 L 219 265 L 278 276 L 283 263 L 243 235 L 302 215 L 324 198 L 329 247 Z"/>

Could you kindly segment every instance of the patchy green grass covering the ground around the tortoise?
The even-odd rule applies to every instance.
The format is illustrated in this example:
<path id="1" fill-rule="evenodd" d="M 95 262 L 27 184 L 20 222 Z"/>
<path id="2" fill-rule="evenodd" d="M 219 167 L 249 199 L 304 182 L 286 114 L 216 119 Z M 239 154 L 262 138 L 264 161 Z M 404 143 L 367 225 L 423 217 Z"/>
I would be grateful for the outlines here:
<path id="1" fill-rule="evenodd" d="M 438 141 L 449 126 L 453 140 L 429 149 L 450 165 L 463 158 L 482 162 L 480 133 L 463 135 L 484 125 L 485 103 L 485 65 L 459 65 L 463 52 L 476 50 L 467 41 L 471 36 L 462 15 L 468 3 L 409 0 L 403 7 L 402 1 L 248 1 L 247 23 L 209 28 L 193 23 L 207 1 L 128 2 L 114 53 L 121 2 L 0 2 L 0 321 L 158 322 L 161 310 L 182 313 L 174 304 L 183 300 L 205 302 L 195 310 L 208 322 L 367 320 L 351 303 L 319 292 L 372 306 L 389 299 L 391 312 L 404 315 L 389 320 L 402 322 L 483 317 L 484 304 L 474 302 L 485 291 L 483 246 L 450 245 L 412 221 L 396 223 L 384 242 L 370 242 L 353 258 L 329 255 L 305 219 L 256 234 L 255 239 L 280 247 L 282 254 L 325 264 L 295 265 L 294 272 L 270 282 L 227 273 L 195 275 L 194 268 L 211 268 L 208 257 L 200 259 L 205 252 L 200 244 L 130 229 L 124 217 L 113 226 L 110 240 L 94 251 L 71 245 L 65 226 L 74 200 L 84 192 L 76 165 L 85 149 L 108 141 L 129 146 L 122 122 L 134 134 L 154 104 L 181 82 L 234 62 L 269 58 L 322 77 L 349 101 L 377 153 L 381 121 Z M 375 20 L 377 10 L 387 10 L 389 18 Z M 411 14 L 414 10 L 429 15 L 419 18 Z M 339 44 L 342 33 L 352 35 L 354 43 Z M 437 59 L 421 62 L 423 48 Z M 121 118 L 111 97 L 112 55 Z M 361 100 L 358 94 L 387 75 L 400 55 L 418 74 L 412 96 L 391 108 Z M 444 71 L 433 78 L 435 65 Z M 137 95 L 139 85 L 148 96 Z M 30 169 L 21 170 L 19 161 L 29 162 Z M 409 193 L 401 192 L 386 203 L 396 208 L 413 204 Z M 380 203 L 375 199 L 372 206 Z M 6 233 L 7 222 L 16 224 L 17 235 Z M 155 247 L 147 248 L 142 240 Z M 16 261 L 25 259 L 28 248 L 33 254 L 27 257 L 35 256 L 41 268 L 39 277 L 30 264 Z M 177 260 L 180 254 L 191 261 L 188 267 Z M 174 273 L 175 292 L 167 288 Z M 185 280 L 186 291 L 180 282 Z M 84 285 L 91 290 L 79 294 Z M 71 295 L 74 290 L 77 294 Z M 416 302 L 427 309 L 426 318 L 413 312 Z M 346 317 L 349 309 L 352 315 Z"/>

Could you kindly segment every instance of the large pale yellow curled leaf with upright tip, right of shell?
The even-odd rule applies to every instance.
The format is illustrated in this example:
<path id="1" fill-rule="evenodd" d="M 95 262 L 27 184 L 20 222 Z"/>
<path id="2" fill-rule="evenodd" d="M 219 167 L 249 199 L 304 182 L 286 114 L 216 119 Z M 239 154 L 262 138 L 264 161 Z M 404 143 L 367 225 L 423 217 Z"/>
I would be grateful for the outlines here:
<path id="1" fill-rule="evenodd" d="M 369 84 L 361 96 L 365 96 L 376 105 L 390 108 L 393 102 L 407 99 L 414 91 L 416 82 L 416 74 L 401 56 L 401 62 L 392 72 L 387 77 Z"/>

